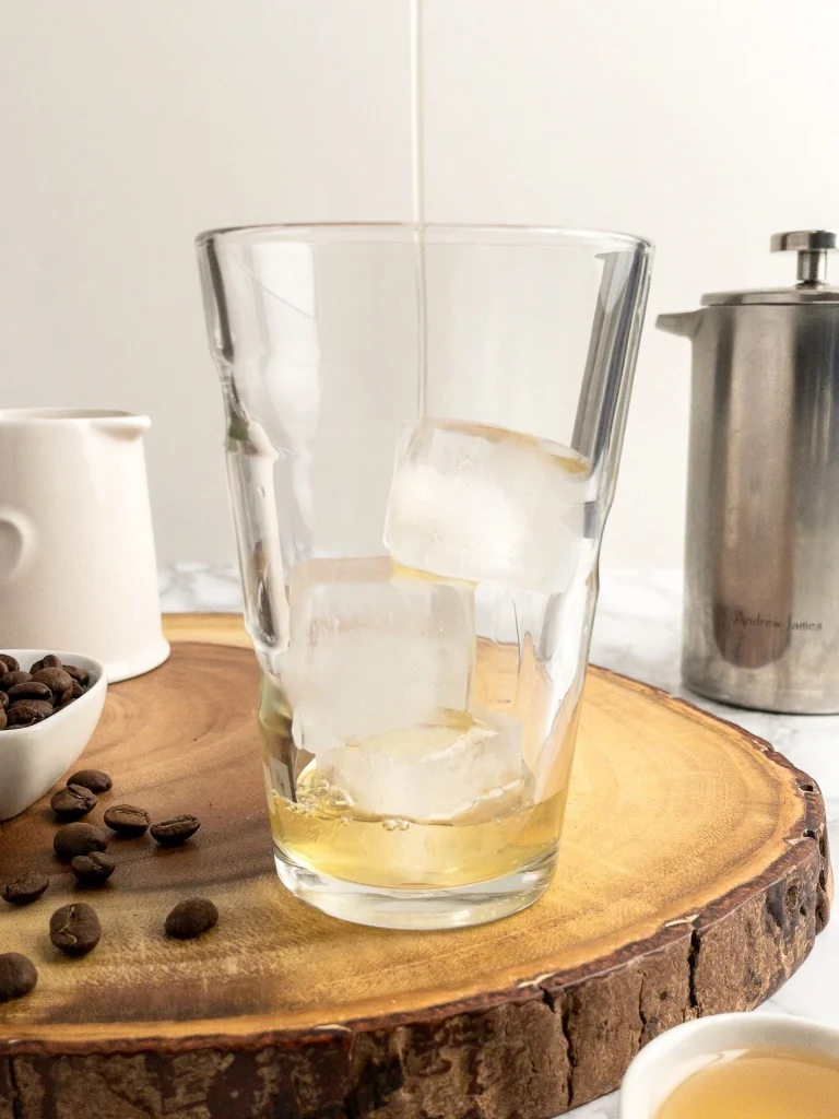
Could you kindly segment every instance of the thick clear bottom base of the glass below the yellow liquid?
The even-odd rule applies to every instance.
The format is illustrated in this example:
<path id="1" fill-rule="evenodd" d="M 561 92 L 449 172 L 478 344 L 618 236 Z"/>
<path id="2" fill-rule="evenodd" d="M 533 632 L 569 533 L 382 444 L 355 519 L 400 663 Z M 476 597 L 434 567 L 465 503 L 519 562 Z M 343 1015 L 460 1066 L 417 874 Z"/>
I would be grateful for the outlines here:
<path id="1" fill-rule="evenodd" d="M 538 901 L 554 877 L 556 853 L 502 878 L 447 890 L 388 890 L 346 882 L 290 862 L 279 847 L 274 862 L 295 897 L 341 921 L 379 929 L 462 929 L 510 916 Z"/>

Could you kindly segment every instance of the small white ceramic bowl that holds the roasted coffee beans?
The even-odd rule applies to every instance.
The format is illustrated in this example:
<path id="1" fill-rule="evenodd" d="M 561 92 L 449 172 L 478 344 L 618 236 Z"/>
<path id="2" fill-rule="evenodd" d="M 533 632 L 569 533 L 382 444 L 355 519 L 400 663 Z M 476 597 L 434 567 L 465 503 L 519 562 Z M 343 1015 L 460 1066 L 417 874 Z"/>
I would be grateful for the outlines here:
<path id="1" fill-rule="evenodd" d="M 21 669 L 53 649 L 0 649 L 20 661 Z M 77 652 L 56 652 L 68 665 L 89 674 L 91 687 L 64 711 L 31 726 L 0 731 L 0 820 L 11 819 L 44 796 L 75 762 L 91 741 L 105 705 L 107 677 L 98 660 Z"/>

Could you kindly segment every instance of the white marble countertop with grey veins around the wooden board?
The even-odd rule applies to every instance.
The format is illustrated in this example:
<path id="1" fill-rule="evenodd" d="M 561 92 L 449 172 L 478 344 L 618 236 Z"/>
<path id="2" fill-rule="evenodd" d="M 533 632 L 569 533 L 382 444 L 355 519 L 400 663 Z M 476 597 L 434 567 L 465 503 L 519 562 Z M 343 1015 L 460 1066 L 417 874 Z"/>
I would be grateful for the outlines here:
<path id="1" fill-rule="evenodd" d="M 238 575 L 230 568 L 177 564 L 161 575 L 163 610 L 239 610 Z M 592 641 L 592 661 L 684 695 L 707 711 L 766 739 L 818 781 L 830 840 L 839 849 L 839 715 L 770 715 L 725 707 L 690 695 L 679 679 L 681 574 L 606 574 Z M 817 939 L 801 969 L 765 1004 L 839 1026 L 839 920 Z M 568 1112 L 573 1119 L 618 1119 L 616 1094 Z"/>

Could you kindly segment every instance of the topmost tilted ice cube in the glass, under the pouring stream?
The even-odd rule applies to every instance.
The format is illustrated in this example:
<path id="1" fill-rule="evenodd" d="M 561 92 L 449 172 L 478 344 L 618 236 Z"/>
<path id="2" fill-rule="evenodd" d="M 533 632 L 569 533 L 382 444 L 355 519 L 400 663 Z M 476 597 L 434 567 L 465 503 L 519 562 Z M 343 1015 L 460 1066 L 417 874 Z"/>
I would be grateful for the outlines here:
<path id="1" fill-rule="evenodd" d="M 559 592 L 586 539 L 591 468 L 548 440 L 453 421 L 406 424 L 385 545 L 406 567 Z"/>

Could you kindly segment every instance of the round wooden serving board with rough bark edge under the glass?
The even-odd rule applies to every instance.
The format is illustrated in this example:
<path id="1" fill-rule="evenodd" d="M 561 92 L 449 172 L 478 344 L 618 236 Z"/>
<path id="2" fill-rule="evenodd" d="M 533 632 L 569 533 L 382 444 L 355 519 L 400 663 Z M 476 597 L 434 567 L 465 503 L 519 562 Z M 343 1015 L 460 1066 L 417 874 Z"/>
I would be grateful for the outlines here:
<path id="1" fill-rule="evenodd" d="M 602 669 L 543 901 L 439 933 L 324 916 L 274 874 L 241 621 L 175 617 L 168 633 L 166 665 L 111 687 L 79 765 L 114 779 L 92 821 L 122 801 L 153 819 L 195 812 L 200 831 L 172 850 L 114 840 L 117 869 L 94 892 L 55 862 L 46 798 L 3 825 L 0 881 L 53 878 L 27 909 L 0 903 L 0 950 L 40 976 L 0 1006 L 0 1119 L 545 1119 L 613 1089 L 660 1031 L 756 1006 L 827 921 L 812 781 Z M 195 895 L 216 902 L 218 927 L 168 940 L 167 912 Z M 82 899 L 104 931 L 70 960 L 47 927 Z"/>

